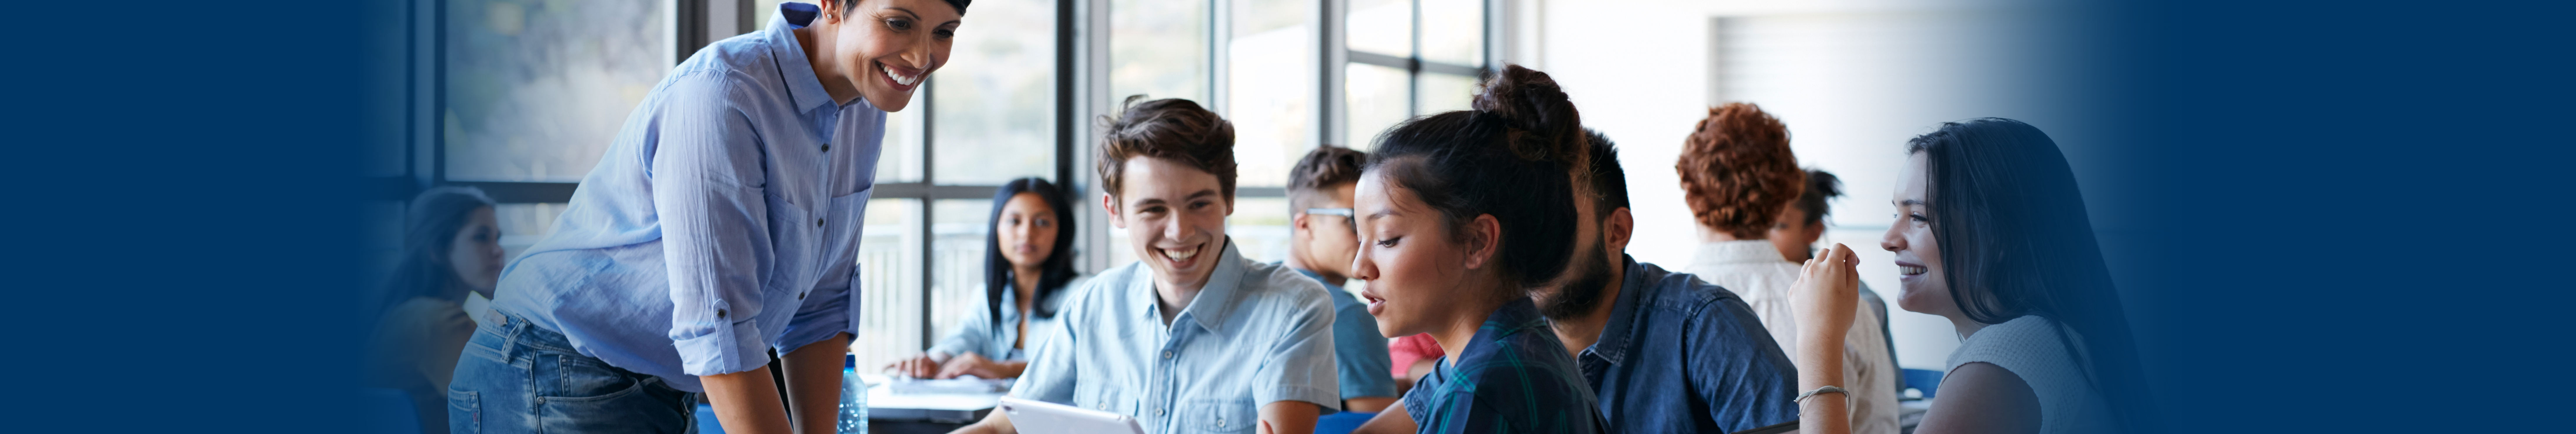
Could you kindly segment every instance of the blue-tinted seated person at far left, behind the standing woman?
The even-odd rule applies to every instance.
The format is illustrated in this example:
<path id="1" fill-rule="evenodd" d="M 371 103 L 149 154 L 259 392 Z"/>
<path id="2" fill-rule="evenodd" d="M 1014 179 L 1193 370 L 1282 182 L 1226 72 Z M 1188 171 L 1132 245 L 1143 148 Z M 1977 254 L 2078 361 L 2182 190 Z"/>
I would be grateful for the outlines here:
<path id="1" fill-rule="evenodd" d="M 448 431 L 448 375 L 474 336 L 464 300 L 489 298 L 500 280 L 500 223 L 482 190 L 430 187 L 404 208 L 402 226 L 402 262 L 368 339 L 368 383 L 410 395 L 420 431 Z"/>

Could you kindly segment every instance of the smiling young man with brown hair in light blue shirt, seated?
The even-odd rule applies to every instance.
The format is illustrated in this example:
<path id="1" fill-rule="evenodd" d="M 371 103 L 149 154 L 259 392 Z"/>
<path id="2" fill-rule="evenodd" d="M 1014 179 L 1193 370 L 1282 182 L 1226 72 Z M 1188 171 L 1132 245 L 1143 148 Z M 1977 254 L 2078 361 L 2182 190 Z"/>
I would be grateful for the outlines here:
<path id="1" fill-rule="evenodd" d="M 1128 231 L 1059 308 L 1010 395 L 1126 413 L 1149 434 L 1306 434 L 1337 411 L 1332 298 L 1226 239 L 1234 126 L 1190 100 L 1128 98 L 1100 141 L 1100 205 Z M 1018 431 L 992 411 L 958 431 Z"/>

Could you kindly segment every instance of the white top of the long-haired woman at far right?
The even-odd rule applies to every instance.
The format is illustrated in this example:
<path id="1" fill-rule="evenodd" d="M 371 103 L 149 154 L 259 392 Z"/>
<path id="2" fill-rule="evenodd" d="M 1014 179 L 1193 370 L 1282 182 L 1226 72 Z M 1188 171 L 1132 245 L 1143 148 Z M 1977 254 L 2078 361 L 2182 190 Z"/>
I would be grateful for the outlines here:
<path id="1" fill-rule="evenodd" d="M 1960 365 L 1989 362 L 2020 375 L 2022 383 L 2030 383 L 2030 393 L 2040 395 L 2040 434 L 2112 431 L 2107 419 L 2110 406 L 2102 403 L 2099 393 L 2094 393 L 2084 367 L 2074 365 L 2074 352 L 2069 352 L 2066 342 L 2058 339 L 2061 331 L 2066 342 L 2079 347 L 2084 344 L 2084 336 L 2074 329 L 2063 329 L 2058 321 L 2040 316 L 2022 316 L 1978 329 L 1976 334 L 1968 334 L 1968 342 L 1960 342 L 1958 349 L 1950 352 L 1950 370 L 1955 372 Z"/>

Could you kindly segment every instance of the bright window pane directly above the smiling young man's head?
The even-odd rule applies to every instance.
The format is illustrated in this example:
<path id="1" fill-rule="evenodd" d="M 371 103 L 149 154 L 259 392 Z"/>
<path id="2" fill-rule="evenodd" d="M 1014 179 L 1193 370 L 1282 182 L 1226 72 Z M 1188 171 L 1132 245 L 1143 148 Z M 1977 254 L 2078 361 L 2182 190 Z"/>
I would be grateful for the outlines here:
<path id="1" fill-rule="evenodd" d="M 1208 3 L 1110 0 L 1110 98 L 1128 95 L 1208 103 Z"/>

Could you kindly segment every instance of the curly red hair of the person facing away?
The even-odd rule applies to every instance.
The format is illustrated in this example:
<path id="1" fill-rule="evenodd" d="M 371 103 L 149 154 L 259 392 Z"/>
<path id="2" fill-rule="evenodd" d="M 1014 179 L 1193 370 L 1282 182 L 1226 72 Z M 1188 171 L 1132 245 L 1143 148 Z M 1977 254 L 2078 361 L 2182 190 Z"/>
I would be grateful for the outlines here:
<path id="1" fill-rule="evenodd" d="M 1726 103 L 1682 139 L 1682 198 L 1690 216 L 1736 239 L 1762 239 L 1780 208 L 1806 193 L 1806 172 L 1788 149 L 1788 126 L 1759 105 Z"/>

